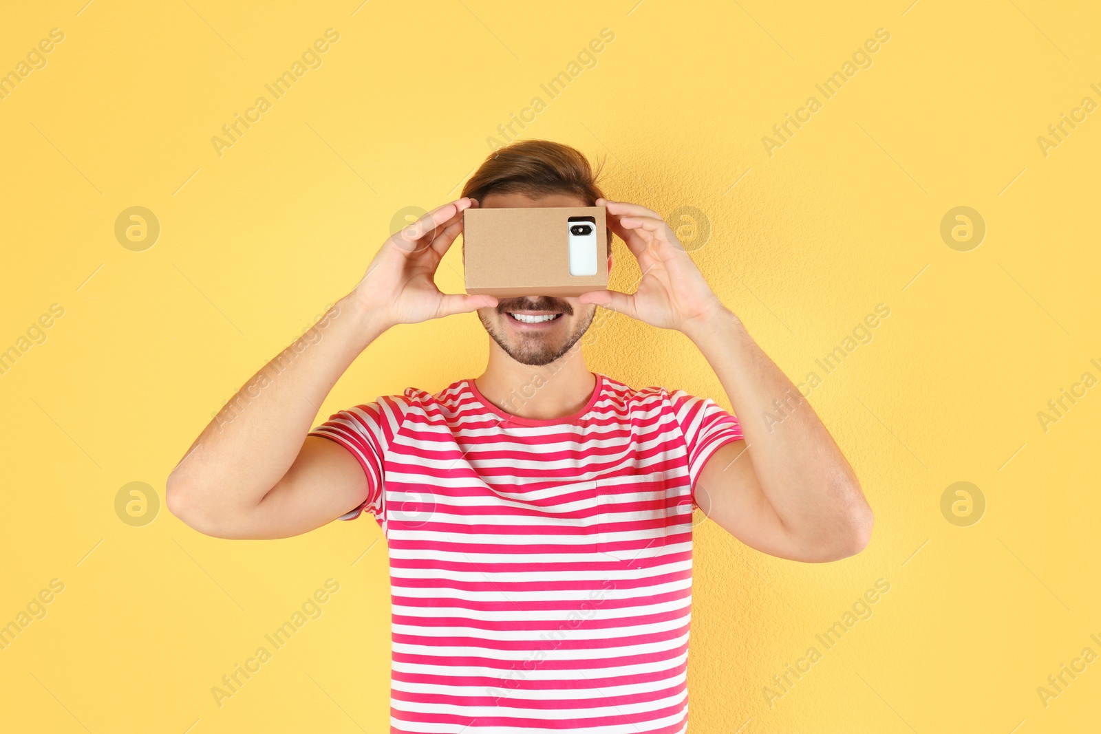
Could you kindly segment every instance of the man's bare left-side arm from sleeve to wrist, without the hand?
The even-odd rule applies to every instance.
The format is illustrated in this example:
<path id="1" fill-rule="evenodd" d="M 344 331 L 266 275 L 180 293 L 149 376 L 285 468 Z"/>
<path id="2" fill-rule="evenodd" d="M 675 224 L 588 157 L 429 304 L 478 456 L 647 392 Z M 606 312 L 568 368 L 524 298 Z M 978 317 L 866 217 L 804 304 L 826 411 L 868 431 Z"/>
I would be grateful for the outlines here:
<path id="1" fill-rule="evenodd" d="M 277 538 L 362 502 L 359 462 L 306 434 L 336 381 L 384 330 L 379 316 L 349 295 L 249 380 L 168 476 L 172 514 L 220 538 Z"/>

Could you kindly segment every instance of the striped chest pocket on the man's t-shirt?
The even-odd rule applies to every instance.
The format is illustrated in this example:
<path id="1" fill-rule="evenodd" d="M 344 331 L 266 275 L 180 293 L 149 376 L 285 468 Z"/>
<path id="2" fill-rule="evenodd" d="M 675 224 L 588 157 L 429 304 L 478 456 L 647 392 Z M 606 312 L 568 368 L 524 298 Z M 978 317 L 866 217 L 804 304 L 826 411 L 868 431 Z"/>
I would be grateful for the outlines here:
<path id="1" fill-rule="evenodd" d="M 667 546 L 690 539 L 691 497 L 680 493 L 661 475 L 597 480 L 597 552 L 631 561 L 664 555 L 672 550 Z"/>

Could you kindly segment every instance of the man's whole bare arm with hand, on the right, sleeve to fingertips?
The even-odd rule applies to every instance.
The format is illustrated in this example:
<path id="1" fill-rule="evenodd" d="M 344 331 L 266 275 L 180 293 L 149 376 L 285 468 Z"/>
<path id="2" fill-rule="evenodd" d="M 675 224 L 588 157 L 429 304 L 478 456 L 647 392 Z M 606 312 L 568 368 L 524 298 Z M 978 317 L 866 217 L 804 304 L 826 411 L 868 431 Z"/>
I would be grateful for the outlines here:
<path id="1" fill-rule="evenodd" d="M 718 449 L 699 472 L 697 504 L 734 537 L 773 556 L 828 561 L 863 549 L 872 511 L 810 404 L 722 305 L 657 212 L 623 201 L 597 205 L 606 207 L 643 277 L 633 294 L 592 291 L 580 300 L 688 336 L 742 423 L 745 440 Z M 774 399 L 791 412 L 780 426 L 767 426 L 760 416 L 775 409 Z"/>

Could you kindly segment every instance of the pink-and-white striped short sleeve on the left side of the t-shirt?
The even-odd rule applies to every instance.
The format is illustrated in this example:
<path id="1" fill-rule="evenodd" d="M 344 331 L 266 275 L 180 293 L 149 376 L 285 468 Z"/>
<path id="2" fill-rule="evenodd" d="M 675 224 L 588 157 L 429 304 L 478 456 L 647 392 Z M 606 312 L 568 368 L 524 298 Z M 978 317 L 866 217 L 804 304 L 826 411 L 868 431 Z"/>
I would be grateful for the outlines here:
<path id="1" fill-rule="evenodd" d="M 339 517 L 355 519 L 363 511 L 381 524 L 384 519 L 384 460 L 394 436 L 401 430 L 408 404 L 401 395 L 379 397 L 373 403 L 340 410 L 315 427 L 307 436 L 319 436 L 346 448 L 367 475 L 367 499 L 358 507 Z"/>

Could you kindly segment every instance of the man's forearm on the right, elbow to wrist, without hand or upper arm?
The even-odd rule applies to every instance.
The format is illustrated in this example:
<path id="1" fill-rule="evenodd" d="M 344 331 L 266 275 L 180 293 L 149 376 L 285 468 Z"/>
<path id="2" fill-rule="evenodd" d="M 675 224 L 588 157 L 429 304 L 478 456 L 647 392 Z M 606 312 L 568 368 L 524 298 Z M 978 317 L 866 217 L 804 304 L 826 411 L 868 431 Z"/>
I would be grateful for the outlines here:
<path id="1" fill-rule="evenodd" d="M 722 383 L 742 426 L 761 491 L 787 532 L 864 525 L 871 514 L 857 476 L 798 388 L 726 308 L 685 333 Z"/>

